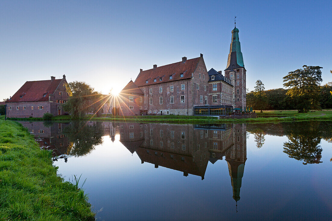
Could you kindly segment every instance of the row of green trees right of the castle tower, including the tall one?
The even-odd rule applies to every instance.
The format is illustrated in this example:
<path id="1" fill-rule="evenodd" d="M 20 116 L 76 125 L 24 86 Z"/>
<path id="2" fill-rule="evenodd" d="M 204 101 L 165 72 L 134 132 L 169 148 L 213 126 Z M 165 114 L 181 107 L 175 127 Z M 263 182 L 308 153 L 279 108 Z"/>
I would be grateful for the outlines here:
<path id="1" fill-rule="evenodd" d="M 253 91 L 247 93 L 247 107 L 254 110 L 332 109 L 332 82 L 322 82 L 322 67 L 304 65 L 286 75 L 284 88 L 265 90 L 261 80 L 256 81 Z M 332 73 L 332 70 L 330 71 Z"/>

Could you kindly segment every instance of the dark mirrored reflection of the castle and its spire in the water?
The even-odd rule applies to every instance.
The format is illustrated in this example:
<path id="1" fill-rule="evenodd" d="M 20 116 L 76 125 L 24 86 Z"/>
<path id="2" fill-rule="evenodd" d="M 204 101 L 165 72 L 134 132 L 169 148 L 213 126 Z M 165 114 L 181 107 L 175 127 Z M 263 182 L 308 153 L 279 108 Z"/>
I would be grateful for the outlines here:
<path id="1" fill-rule="evenodd" d="M 136 152 L 141 163 L 154 164 L 200 176 L 208 161 L 214 164 L 223 157 L 228 164 L 233 198 L 240 199 L 240 188 L 247 160 L 246 124 L 149 124 L 112 123 L 110 136 L 119 133 L 120 142 Z"/>

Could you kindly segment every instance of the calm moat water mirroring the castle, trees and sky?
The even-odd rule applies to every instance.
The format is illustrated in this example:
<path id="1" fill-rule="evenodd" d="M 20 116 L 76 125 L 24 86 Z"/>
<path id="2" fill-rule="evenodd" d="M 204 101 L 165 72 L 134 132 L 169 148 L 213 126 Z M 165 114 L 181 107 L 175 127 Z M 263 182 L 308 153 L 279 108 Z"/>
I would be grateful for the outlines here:
<path id="1" fill-rule="evenodd" d="M 97 220 L 332 217 L 332 121 L 21 123 L 86 178 Z"/>

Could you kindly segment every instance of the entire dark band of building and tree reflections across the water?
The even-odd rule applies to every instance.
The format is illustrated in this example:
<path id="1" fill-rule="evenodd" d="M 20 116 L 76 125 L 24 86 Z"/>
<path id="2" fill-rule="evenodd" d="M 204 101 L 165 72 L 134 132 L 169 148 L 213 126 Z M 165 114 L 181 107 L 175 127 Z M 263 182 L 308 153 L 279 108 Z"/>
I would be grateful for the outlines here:
<path id="1" fill-rule="evenodd" d="M 283 152 L 303 164 L 321 163 L 321 139 L 331 142 L 332 123 L 322 121 L 265 124 L 154 124 L 131 122 L 73 121 L 71 123 L 21 122 L 35 135 L 41 146 L 54 156 L 83 156 L 102 144 L 109 135 L 130 151 L 141 163 L 165 167 L 204 179 L 207 164 L 225 160 L 233 188 L 233 199 L 240 199 L 240 188 L 247 160 L 247 131 L 254 134 L 257 148 L 265 135 L 287 136 Z M 332 160 L 332 159 L 331 159 Z"/>

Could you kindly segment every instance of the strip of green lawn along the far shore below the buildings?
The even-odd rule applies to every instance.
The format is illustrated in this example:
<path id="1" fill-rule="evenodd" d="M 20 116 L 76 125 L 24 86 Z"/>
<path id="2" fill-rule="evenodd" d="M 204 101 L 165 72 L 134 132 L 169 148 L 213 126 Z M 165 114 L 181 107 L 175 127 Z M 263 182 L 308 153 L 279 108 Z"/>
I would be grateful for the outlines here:
<path id="1" fill-rule="evenodd" d="M 281 118 L 284 117 L 284 118 Z M 10 118 L 13 120 L 22 120 L 22 118 Z M 42 118 L 23 118 L 28 120 L 42 120 Z M 207 116 L 180 116 L 180 115 L 158 115 L 158 116 L 112 116 L 103 115 L 94 117 L 87 115 L 84 120 L 102 120 L 102 121 L 128 121 L 128 122 L 155 122 L 155 123 L 264 123 L 264 122 L 285 122 L 294 120 L 331 120 L 332 111 L 315 111 L 308 113 L 297 113 L 297 111 L 263 111 L 257 112 L 257 118 L 248 119 L 228 119 Z M 70 120 L 70 116 L 54 116 L 53 120 Z"/>

